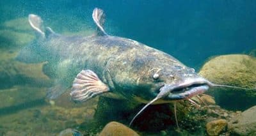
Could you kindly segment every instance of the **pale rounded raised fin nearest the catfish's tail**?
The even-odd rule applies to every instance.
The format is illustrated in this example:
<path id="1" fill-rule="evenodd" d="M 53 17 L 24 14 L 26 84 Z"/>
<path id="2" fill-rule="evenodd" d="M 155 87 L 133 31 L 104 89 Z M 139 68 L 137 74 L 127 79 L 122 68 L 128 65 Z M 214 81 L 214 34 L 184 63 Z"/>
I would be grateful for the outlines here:
<path id="1" fill-rule="evenodd" d="M 40 36 L 45 37 L 45 33 L 43 31 L 43 20 L 38 15 L 29 14 L 28 21 L 30 26 L 36 31 L 36 33 Z"/>

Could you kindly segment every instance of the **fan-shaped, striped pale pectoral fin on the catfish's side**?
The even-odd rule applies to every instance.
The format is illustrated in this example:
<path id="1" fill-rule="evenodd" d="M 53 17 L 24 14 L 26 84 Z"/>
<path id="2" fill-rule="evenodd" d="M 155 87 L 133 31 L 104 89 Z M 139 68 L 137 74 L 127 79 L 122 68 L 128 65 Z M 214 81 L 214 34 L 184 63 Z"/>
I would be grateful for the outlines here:
<path id="1" fill-rule="evenodd" d="M 86 102 L 102 93 L 109 92 L 104 84 L 92 70 L 82 70 L 76 77 L 70 93 L 74 102 Z"/>

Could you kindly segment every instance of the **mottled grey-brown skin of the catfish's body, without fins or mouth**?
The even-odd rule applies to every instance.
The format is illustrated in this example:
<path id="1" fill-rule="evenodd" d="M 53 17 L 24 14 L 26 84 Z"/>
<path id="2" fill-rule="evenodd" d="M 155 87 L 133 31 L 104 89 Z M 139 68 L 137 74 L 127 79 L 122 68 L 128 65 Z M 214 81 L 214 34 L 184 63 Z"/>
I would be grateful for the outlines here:
<path id="1" fill-rule="evenodd" d="M 57 82 L 67 87 L 77 73 L 88 69 L 97 73 L 115 94 L 152 100 L 164 84 L 198 76 L 193 68 L 169 54 L 127 38 L 52 33 L 38 43 L 40 57 L 56 66 Z M 157 80 L 153 78 L 156 72 Z"/>

